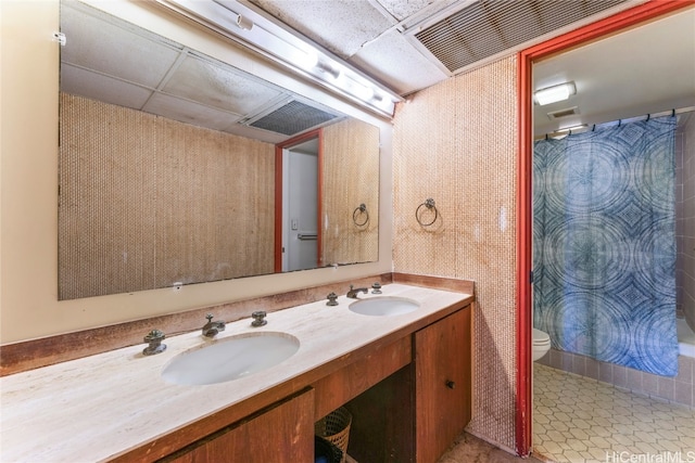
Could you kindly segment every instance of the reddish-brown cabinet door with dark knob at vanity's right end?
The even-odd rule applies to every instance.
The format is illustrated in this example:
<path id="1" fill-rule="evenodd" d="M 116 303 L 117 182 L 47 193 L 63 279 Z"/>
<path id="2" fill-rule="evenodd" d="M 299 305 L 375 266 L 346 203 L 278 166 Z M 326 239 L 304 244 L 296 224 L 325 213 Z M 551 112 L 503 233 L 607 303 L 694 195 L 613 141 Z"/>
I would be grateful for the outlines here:
<path id="1" fill-rule="evenodd" d="M 470 306 L 415 333 L 415 447 L 437 462 L 470 421 Z"/>

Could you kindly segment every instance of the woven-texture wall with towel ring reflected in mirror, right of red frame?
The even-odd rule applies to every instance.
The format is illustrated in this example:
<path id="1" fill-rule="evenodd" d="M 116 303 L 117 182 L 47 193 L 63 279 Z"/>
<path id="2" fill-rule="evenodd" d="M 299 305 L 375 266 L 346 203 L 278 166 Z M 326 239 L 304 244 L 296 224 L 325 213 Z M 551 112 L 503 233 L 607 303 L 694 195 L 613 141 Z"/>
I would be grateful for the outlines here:
<path id="1" fill-rule="evenodd" d="M 327 265 L 379 259 L 378 127 L 346 119 L 324 129 L 321 223 Z"/>

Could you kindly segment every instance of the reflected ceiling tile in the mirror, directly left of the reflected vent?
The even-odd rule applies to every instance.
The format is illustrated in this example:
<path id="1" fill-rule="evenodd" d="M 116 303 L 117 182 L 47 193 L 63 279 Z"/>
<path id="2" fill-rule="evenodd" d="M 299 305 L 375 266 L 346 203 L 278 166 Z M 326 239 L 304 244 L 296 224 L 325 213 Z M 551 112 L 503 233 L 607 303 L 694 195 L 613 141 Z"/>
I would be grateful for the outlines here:
<path id="1" fill-rule="evenodd" d="M 231 66 L 190 54 L 162 90 L 239 115 L 248 115 L 282 94 L 269 83 L 244 76 Z"/>

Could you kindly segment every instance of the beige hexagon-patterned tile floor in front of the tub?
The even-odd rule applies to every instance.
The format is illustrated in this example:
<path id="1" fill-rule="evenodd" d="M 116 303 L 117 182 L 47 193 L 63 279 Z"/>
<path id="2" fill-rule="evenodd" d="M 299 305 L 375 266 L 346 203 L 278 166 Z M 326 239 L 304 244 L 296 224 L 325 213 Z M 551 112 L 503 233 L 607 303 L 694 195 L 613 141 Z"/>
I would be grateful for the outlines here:
<path id="1" fill-rule="evenodd" d="M 533 454 L 547 462 L 695 462 L 695 410 L 533 364 Z"/>

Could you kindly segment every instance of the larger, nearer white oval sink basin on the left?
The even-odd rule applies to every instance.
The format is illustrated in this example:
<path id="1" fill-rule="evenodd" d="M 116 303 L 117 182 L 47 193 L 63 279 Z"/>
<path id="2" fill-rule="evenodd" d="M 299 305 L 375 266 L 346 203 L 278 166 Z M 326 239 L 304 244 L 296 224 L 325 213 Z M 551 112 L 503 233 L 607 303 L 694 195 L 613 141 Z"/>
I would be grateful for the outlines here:
<path id="1" fill-rule="evenodd" d="M 249 333 L 187 350 L 162 370 L 167 383 L 193 386 L 239 380 L 292 357 L 300 340 L 286 333 Z"/>

